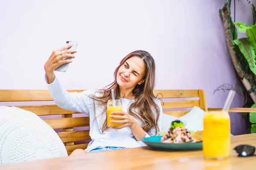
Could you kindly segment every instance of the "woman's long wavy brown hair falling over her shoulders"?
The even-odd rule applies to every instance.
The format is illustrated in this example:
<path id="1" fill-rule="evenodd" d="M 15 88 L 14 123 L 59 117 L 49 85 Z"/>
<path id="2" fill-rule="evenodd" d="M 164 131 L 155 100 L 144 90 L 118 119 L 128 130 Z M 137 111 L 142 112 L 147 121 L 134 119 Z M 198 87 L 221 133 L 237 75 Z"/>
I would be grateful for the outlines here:
<path id="1" fill-rule="evenodd" d="M 154 101 L 154 99 L 156 99 L 157 97 L 153 94 L 153 89 L 155 85 L 155 62 L 153 57 L 147 51 L 138 50 L 131 52 L 130 54 L 125 56 L 114 72 L 114 82 L 112 82 L 110 85 L 107 85 L 104 89 L 100 90 L 100 93 L 102 93 L 102 95 L 94 96 L 93 99 L 100 101 L 101 103 L 99 105 L 105 106 L 102 114 L 106 114 L 107 102 L 108 100 L 112 99 L 112 88 L 115 92 L 115 99 L 120 99 L 120 89 L 119 85 L 116 82 L 117 72 L 127 59 L 134 56 L 142 58 L 145 63 L 145 77 L 143 78 L 145 79 L 145 81 L 141 85 L 136 85 L 136 87 L 134 88 L 133 95 L 135 96 L 135 102 L 132 103 L 128 108 L 128 114 L 134 116 L 134 118 L 142 122 L 142 128 L 143 130 L 145 130 L 145 132 L 150 131 L 154 127 L 156 129 L 155 135 L 157 135 L 157 131 L 159 130 L 157 122 L 159 119 L 160 111 L 159 107 Z M 156 116 L 154 115 L 152 109 L 154 109 L 154 111 L 157 113 Z M 133 112 L 135 110 L 137 111 L 137 113 Z M 106 120 L 103 123 L 102 132 L 107 129 L 109 129 L 109 127 L 107 125 L 106 114 Z"/>

